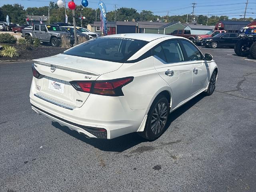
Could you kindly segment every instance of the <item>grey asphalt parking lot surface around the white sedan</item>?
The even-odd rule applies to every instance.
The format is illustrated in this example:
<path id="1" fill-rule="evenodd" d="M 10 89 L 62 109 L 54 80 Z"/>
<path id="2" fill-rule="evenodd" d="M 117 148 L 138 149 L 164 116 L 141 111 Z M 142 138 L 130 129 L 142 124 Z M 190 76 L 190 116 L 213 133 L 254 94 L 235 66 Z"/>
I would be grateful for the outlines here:
<path id="1" fill-rule="evenodd" d="M 256 60 L 200 49 L 218 64 L 214 94 L 173 112 L 153 142 L 52 124 L 30 106 L 32 62 L 0 63 L 0 191 L 255 192 Z"/>

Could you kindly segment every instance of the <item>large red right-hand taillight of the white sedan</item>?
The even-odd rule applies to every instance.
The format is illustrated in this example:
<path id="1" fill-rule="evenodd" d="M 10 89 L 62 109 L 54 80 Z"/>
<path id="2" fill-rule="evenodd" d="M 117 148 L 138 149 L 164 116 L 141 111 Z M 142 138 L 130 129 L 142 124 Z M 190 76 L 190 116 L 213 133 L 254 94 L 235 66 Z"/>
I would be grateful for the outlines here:
<path id="1" fill-rule="evenodd" d="M 133 81 L 133 77 L 106 81 L 72 81 L 70 84 L 82 92 L 105 95 L 105 96 L 123 96 L 122 87 Z"/>

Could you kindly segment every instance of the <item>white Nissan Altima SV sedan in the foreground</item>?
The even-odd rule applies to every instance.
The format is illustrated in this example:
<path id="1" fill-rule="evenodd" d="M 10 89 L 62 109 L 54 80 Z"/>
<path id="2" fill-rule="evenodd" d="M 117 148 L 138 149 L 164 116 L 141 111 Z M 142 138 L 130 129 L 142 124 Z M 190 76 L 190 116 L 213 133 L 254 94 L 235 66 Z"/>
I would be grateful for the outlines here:
<path id="1" fill-rule="evenodd" d="M 155 140 L 171 112 L 214 92 L 218 68 L 186 38 L 116 34 L 34 60 L 32 71 L 38 114 L 88 138 Z"/>

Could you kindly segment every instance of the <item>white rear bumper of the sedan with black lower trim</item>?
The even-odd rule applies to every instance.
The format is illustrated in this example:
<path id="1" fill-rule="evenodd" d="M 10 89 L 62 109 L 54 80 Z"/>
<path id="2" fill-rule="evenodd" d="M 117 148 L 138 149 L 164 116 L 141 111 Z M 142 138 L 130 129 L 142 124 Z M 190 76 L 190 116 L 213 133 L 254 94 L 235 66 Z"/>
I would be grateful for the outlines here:
<path id="1" fill-rule="evenodd" d="M 148 110 L 131 110 L 124 96 L 110 97 L 90 94 L 81 107 L 73 110 L 36 97 L 33 84 L 30 90 L 32 109 L 71 130 L 90 138 L 112 139 L 137 132 Z M 106 130 L 104 132 L 104 130 Z"/>

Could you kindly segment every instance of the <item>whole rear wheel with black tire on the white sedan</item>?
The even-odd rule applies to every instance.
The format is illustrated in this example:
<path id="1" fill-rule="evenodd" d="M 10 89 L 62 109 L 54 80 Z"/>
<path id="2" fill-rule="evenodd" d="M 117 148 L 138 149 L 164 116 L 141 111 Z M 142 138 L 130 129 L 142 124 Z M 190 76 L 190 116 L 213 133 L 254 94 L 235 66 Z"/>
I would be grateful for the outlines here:
<path id="1" fill-rule="evenodd" d="M 140 136 L 147 140 L 156 140 L 165 128 L 170 112 L 170 104 L 164 95 L 158 95 L 152 103 L 148 112 L 146 126 Z"/>

